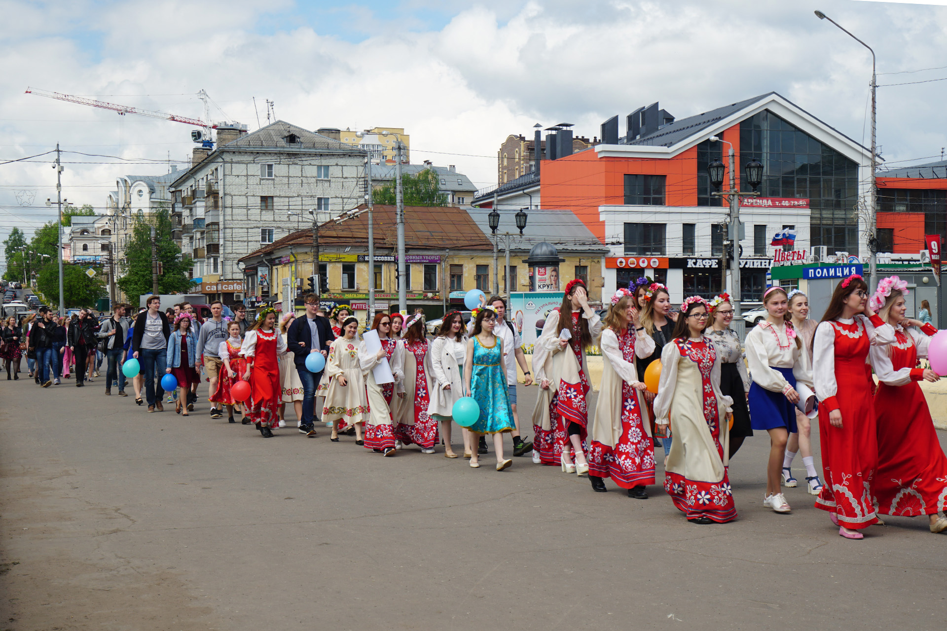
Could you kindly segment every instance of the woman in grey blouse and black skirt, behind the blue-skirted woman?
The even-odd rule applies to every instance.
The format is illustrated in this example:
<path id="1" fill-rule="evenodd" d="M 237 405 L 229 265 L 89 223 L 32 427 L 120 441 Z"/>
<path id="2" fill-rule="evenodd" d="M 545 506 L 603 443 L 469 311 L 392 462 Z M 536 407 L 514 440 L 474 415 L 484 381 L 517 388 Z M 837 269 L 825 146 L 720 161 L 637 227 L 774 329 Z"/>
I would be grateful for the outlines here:
<path id="1" fill-rule="evenodd" d="M 746 372 L 746 356 L 740 336 L 730 328 L 733 322 L 730 295 L 722 293 L 710 301 L 710 318 L 705 334 L 717 348 L 721 358 L 720 391 L 733 399 L 733 426 L 727 455 L 733 458 L 747 436 L 753 435 L 746 399 L 750 392 L 750 376 Z"/>

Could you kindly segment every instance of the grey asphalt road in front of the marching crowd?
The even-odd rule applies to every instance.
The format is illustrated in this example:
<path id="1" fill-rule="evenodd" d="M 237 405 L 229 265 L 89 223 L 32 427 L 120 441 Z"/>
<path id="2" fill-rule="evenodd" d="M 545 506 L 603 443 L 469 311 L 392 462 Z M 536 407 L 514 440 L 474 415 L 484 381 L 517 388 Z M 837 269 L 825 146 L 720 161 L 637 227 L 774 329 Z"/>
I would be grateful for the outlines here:
<path id="1" fill-rule="evenodd" d="M 791 515 L 764 509 L 765 436 L 730 468 L 739 519 L 698 526 L 657 487 L 596 494 L 440 447 L 383 458 L 328 430 L 264 440 L 102 381 L 0 383 L 0 629 L 922 630 L 947 613 L 944 535 L 891 517 L 843 539 L 804 488 Z"/>

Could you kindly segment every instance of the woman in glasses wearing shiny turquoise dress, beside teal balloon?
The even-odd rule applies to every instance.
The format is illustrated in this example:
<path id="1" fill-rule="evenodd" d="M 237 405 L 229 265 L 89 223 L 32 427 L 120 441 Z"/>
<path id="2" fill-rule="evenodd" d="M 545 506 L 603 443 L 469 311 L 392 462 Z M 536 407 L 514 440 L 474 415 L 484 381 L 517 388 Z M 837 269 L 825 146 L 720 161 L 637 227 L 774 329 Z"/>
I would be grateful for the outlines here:
<path id="1" fill-rule="evenodd" d="M 492 434 L 496 452 L 496 470 L 513 464 L 503 457 L 503 434 L 516 429 L 509 407 L 507 367 L 503 360 L 503 341 L 493 335 L 496 311 L 492 307 L 474 309 L 474 330 L 467 341 L 464 359 L 464 391 L 479 407 L 477 420 L 469 427 L 473 435 Z M 473 442 L 471 441 L 472 447 Z M 480 466 L 479 454 L 471 450 L 470 465 Z"/>

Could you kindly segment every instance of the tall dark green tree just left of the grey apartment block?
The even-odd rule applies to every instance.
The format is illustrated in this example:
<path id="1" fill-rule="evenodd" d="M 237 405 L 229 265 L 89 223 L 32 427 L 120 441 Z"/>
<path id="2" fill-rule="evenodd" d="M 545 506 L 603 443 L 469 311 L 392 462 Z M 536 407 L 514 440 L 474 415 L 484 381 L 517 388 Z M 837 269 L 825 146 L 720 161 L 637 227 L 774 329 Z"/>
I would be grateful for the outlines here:
<path id="1" fill-rule="evenodd" d="M 134 302 L 137 296 L 152 291 L 152 228 L 162 272 L 158 276 L 158 293 L 183 292 L 190 289 L 188 272 L 194 267 L 190 256 L 181 254 L 171 235 L 168 208 L 160 206 L 148 219 L 139 220 L 132 238 L 125 247 L 128 272 L 116 280 L 119 289 Z"/>

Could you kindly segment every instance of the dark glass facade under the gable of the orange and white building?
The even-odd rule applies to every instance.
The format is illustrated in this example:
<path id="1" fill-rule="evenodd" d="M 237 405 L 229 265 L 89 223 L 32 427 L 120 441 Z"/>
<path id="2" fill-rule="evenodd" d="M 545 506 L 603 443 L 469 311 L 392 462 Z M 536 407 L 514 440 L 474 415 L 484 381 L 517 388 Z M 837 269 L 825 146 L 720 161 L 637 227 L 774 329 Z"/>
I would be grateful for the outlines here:
<path id="1" fill-rule="evenodd" d="M 763 165 L 762 197 L 809 199 L 813 247 L 858 254 L 855 162 L 769 111 L 740 123 L 740 173 L 754 159 Z"/>

